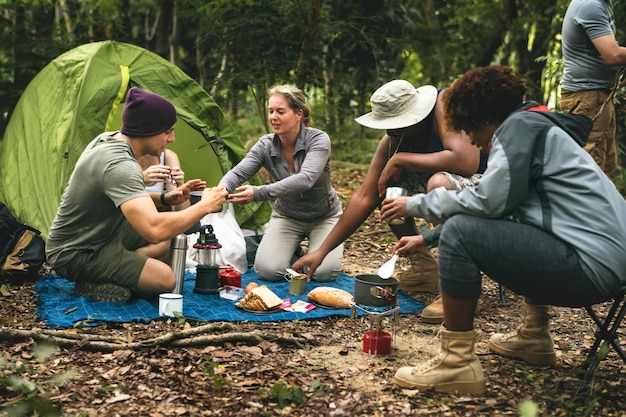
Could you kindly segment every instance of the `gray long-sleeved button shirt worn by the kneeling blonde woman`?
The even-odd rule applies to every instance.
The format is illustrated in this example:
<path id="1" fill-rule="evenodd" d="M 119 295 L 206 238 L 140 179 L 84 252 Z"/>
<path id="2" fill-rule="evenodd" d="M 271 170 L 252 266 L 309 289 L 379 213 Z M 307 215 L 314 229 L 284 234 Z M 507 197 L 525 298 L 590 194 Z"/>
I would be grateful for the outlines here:
<path id="1" fill-rule="evenodd" d="M 293 155 L 295 172 L 283 157 L 280 138 L 271 133 L 259 138 L 245 158 L 220 181 L 229 193 L 265 167 L 275 182 L 255 186 L 256 201 L 275 200 L 281 216 L 315 221 L 341 212 L 341 203 L 330 178 L 330 138 L 319 129 L 300 128 Z"/>

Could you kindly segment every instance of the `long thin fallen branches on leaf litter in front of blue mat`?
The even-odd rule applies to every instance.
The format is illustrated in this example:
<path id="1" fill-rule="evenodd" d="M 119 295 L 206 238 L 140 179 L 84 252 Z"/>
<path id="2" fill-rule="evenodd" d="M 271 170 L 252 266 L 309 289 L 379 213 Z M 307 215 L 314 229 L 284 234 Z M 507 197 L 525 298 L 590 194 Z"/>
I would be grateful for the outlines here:
<path id="1" fill-rule="evenodd" d="M 184 330 L 176 330 L 161 336 L 134 342 L 125 341 L 123 336 L 69 333 L 63 330 L 47 330 L 39 328 L 33 328 L 30 330 L 2 328 L 0 329 L 0 339 L 10 341 L 33 339 L 37 342 L 47 342 L 72 350 L 85 349 L 89 351 L 103 352 L 112 352 L 120 349 L 139 350 L 156 346 L 189 347 L 198 345 L 217 345 L 225 342 L 243 342 L 256 345 L 266 340 L 302 348 L 306 343 L 306 340 L 303 338 L 277 336 L 259 331 L 230 332 L 211 335 L 206 334 L 207 332 L 234 330 L 236 328 L 236 326 L 230 323 L 210 323 Z"/>

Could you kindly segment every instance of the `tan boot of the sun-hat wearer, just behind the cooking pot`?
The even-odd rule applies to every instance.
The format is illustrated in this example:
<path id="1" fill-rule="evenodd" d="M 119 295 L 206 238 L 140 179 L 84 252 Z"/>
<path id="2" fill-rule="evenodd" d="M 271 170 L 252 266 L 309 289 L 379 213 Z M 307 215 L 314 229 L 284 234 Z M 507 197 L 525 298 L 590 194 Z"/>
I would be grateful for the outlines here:
<path id="1" fill-rule="evenodd" d="M 411 266 L 397 274 L 398 288 L 407 294 L 416 292 L 439 293 L 439 265 L 430 253 L 422 250 L 411 253 L 407 259 Z"/>

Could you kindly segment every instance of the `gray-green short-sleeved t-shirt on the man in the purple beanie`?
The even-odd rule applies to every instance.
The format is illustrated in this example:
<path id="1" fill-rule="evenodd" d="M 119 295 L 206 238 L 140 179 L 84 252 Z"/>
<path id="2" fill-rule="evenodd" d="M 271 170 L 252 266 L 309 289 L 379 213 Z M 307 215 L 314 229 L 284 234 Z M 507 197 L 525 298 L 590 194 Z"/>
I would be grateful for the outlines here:
<path id="1" fill-rule="evenodd" d="M 76 162 L 46 242 L 52 265 L 117 238 L 127 222 L 119 206 L 148 195 L 131 146 L 113 134 L 91 141 Z"/>

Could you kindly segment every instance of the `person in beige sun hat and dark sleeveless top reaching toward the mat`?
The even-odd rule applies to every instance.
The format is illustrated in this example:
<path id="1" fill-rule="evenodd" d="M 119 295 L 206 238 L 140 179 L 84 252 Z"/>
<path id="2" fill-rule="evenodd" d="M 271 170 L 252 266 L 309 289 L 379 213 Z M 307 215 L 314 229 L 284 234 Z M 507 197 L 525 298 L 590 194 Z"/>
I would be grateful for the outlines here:
<path id="1" fill-rule="evenodd" d="M 415 88 L 405 80 L 390 81 L 372 94 L 372 111 L 356 121 L 385 130 L 385 134 L 365 181 L 320 248 L 295 262 L 294 269 L 307 266 L 312 274 L 326 255 L 380 206 L 388 186 L 399 185 L 413 194 L 439 186 L 462 189 L 473 184 L 478 178 L 474 175 L 484 170 L 480 152 L 464 133 L 446 129 L 439 95 L 432 85 Z M 397 237 L 420 233 L 411 217 L 404 224 L 390 227 Z M 428 234 L 424 238 L 430 246 L 436 246 L 435 236 Z M 430 251 L 413 252 L 409 261 L 411 268 L 398 274 L 400 288 L 406 292 L 438 292 L 437 262 Z M 437 315 L 441 313 L 433 315 L 440 321 Z"/>

